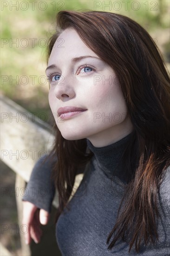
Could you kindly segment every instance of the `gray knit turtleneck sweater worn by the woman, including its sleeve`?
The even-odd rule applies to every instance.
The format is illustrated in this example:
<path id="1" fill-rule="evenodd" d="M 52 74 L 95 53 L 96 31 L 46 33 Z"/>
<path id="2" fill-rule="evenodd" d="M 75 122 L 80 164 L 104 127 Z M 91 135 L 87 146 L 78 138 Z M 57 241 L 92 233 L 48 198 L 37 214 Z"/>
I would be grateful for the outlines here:
<path id="1" fill-rule="evenodd" d="M 87 140 L 87 146 L 94 153 L 87 165 L 84 177 L 76 193 L 68 202 L 70 210 L 64 209 L 56 224 L 56 237 L 63 256 L 170 256 L 170 167 L 163 176 L 159 189 L 157 220 L 158 242 L 153 245 L 141 244 L 140 253 L 123 240 L 108 250 L 107 236 L 110 234 L 124 195 L 124 174 L 119 171 L 119 160 L 131 134 L 111 145 L 96 148 Z M 46 188 L 46 196 L 23 197 L 39 208 L 50 211 L 54 196 L 54 186 L 50 180 L 50 164 L 46 162 L 41 169 L 40 162 L 33 168 L 27 189 Z M 116 169 L 116 171 L 114 171 Z M 43 175 L 42 175 L 43 172 Z M 113 175 L 114 174 L 114 175 Z M 111 240 L 110 240 L 111 242 Z M 109 243 L 110 244 L 110 243 Z"/>

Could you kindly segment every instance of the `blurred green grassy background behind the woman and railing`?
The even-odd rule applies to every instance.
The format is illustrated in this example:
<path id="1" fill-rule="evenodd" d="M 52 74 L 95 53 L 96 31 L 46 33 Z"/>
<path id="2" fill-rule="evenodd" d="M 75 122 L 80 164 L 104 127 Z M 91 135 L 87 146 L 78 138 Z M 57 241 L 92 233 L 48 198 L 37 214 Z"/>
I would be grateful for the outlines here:
<path id="1" fill-rule="evenodd" d="M 30 113 L 51 116 L 45 74 L 46 43 L 55 31 L 55 17 L 60 10 L 108 11 L 130 17 L 150 33 L 170 70 L 170 0 L 1 0 L 0 92 Z M 15 174 L 8 173 L 4 166 L 2 169 L 2 182 L 12 186 Z M 3 203 L 2 223 L 7 219 L 17 223 L 14 197 L 3 198 Z M 3 236 L 3 243 L 13 255 L 20 255 L 19 239 L 19 235 Z"/>

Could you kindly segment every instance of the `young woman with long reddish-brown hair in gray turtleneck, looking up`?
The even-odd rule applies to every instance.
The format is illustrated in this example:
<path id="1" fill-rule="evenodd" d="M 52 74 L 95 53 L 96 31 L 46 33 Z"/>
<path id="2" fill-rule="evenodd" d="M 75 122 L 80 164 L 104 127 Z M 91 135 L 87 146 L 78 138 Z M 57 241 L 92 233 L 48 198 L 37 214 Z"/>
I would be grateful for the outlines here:
<path id="1" fill-rule="evenodd" d="M 169 255 L 170 79 L 150 35 L 123 15 L 61 11 L 46 75 L 56 158 L 27 185 L 48 191 L 23 198 L 27 243 L 40 240 L 31 224 L 37 208 L 47 222 L 55 185 L 62 255 Z"/>

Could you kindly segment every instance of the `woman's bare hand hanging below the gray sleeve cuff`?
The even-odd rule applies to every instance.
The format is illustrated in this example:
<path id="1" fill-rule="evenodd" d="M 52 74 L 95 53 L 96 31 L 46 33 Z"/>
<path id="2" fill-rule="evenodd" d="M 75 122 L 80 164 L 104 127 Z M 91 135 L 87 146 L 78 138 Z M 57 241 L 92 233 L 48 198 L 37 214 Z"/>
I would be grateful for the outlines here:
<path id="1" fill-rule="evenodd" d="M 24 234 L 26 244 L 31 242 L 31 238 L 35 243 L 39 243 L 42 235 L 40 224 L 46 225 L 49 219 L 49 213 L 44 209 L 38 209 L 31 202 L 23 201 L 23 217 L 22 224 L 26 225 L 27 232 Z"/>

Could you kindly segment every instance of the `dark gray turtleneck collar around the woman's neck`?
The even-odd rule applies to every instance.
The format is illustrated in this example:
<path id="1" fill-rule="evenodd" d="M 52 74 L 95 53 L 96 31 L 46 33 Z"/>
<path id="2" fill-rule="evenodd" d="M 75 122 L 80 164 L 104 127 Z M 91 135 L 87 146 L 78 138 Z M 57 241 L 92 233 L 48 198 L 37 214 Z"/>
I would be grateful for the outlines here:
<path id="1" fill-rule="evenodd" d="M 114 142 L 104 147 L 95 147 L 91 141 L 86 139 L 88 148 L 94 153 L 94 158 L 98 164 L 98 167 L 102 169 L 109 177 L 112 175 L 118 175 L 124 182 L 125 177 L 123 173 L 120 173 L 119 161 L 124 153 L 128 141 L 131 139 L 132 133 L 126 135 L 121 140 Z"/>

